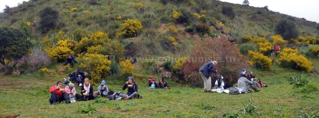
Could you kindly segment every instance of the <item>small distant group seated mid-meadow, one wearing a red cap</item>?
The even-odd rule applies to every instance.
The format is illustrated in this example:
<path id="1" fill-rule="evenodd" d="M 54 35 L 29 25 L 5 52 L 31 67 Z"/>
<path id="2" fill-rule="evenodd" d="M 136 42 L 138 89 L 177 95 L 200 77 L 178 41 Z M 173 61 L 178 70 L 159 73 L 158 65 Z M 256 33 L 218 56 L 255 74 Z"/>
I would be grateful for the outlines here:
<path id="1" fill-rule="evenodd" d="M 155 80 L 154 76 L 151 76 L 148 80 L 148 87 L 151 89 L 169 89 L 168 83 L 164 81 L 164 77 L 161 77 L 160 80 Z"/>

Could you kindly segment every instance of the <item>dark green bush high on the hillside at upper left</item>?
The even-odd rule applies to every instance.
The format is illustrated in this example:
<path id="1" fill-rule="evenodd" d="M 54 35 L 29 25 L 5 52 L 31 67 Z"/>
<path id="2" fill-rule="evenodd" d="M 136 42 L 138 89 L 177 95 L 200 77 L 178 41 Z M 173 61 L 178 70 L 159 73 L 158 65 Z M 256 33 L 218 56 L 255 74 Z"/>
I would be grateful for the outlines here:
<path id="1" fill-rule="evenodd" d="M 59 20 L 58 11 L 51 7 L 45 7 L 39 12 L 40 22 L 39 31 L 41 33 L 47 33 L 49 30 L 56 27 L 57 21 Z"/>

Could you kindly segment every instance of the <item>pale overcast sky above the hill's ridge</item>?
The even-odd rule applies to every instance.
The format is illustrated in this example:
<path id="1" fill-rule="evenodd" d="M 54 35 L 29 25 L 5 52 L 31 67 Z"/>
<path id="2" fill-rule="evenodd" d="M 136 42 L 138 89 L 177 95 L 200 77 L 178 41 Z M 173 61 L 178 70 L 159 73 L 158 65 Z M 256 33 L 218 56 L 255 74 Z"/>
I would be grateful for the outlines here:
<path id="1" fill-rule="evenodd" d="M 0 11 L 5 8 L 15 7 L 18 3 L 29 0 L 0 0 Z M 229 3 L 241 4 L 244 0 L 220 0 Z M 319 23 L 319 0 L 249 0 L 250 6 L 263 7 L 275 12 L 305 18 Z"/>

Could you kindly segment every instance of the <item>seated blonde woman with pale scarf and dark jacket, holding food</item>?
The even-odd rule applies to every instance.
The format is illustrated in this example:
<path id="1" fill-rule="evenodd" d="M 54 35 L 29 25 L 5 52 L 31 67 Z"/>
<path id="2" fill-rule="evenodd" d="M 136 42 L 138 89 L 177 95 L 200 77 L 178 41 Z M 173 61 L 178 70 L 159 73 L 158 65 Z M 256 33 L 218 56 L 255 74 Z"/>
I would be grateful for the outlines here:
<path id="1" fill-rule="evenodd" d="M 76 98 L 78 101 L 81 100 L 92 100 L 95 99 L 95 97 L 93 96 L 93 86 L 90 84 L 90 80 L 88 78 L 84 79 L 84 86 L 81 87 L 81 94 L 76 94 Z"/>

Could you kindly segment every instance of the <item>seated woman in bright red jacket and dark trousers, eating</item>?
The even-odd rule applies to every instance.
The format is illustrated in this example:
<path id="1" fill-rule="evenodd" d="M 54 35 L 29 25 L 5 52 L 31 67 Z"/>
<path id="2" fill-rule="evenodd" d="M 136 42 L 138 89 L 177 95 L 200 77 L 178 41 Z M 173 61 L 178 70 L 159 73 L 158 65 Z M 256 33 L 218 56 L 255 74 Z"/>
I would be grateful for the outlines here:
<path id="1" fill-rule="evenodd" d="M 55 105 L 56 102 L 61 103 L 63 100 L 66 104 L 70 103 L 69 94 L 62 87 L 62 81 L 58 81 L 55 86 L 50 87 L 49 92 L 51 93 L 50 104 Z"/>

